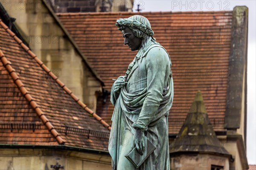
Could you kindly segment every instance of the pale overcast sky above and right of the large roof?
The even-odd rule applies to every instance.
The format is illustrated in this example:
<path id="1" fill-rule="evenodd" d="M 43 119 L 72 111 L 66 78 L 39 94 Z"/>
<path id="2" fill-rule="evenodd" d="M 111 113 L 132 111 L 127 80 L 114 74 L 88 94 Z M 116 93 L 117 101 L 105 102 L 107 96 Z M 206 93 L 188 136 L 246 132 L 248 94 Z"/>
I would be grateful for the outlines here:
<path id="1" fill-rule="evenodd" d="M 134 0 L 141 12 L 221 11 L 249 8 L 247 63 L 247 160 L 256 164 L 256 0 Z"/>

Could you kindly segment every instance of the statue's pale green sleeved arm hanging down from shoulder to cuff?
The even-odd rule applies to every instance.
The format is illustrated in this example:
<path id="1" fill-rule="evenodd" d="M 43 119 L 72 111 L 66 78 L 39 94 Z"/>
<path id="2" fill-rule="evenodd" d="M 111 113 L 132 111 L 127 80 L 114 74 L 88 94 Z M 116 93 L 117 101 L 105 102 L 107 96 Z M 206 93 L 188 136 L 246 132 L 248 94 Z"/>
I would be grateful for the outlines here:
<path id="1" fill-rule="evenodd" d="M 147 95 L 138 121 L 133 124 L 134 128 L 145 130 L 154 118 L 163 100 L 164 81 L 169 67 L 169 56 L 163 48 L 154 47 L 148 52 L 146 56 Z"/>

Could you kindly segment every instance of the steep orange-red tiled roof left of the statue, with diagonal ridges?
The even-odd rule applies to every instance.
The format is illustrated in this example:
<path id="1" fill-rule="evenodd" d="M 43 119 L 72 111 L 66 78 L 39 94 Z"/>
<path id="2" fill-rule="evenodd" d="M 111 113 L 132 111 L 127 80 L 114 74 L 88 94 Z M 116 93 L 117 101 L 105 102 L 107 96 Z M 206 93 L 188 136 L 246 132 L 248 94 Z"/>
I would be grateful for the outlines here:
<path id="1" fill-rule="evenodd" d="M 0 144 L 107 150 L 111 127 L 0 20 Z"/>

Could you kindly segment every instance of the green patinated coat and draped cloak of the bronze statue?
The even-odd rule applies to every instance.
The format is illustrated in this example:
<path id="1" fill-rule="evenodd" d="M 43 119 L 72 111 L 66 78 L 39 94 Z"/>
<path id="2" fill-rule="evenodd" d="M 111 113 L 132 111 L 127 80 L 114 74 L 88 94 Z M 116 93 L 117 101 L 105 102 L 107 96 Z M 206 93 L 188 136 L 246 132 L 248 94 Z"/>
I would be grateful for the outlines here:
<path id="1" fill-rule="evenodd" d="M 127 81 L 119 92 L 111 89 L 115 106 L 109 139 L 113 170 L 136 169 L 125 154 L 133 147 L 135 129 L 140 128 L 156 147 L 141 170 L 169 170 L 168 115 L 173 101 L 173 80 L 169 54 L 160 44 L 150 42 L 130 63 Z"/>

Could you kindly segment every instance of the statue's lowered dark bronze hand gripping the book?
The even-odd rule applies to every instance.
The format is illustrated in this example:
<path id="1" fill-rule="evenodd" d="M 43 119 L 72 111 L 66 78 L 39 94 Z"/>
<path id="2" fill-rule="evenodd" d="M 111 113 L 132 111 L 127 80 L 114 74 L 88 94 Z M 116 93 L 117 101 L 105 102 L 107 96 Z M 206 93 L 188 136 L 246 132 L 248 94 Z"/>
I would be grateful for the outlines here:
<path id="1" fill-rule="evenodd" d="M 133 140 L 138 152 L 143 155 L 144 151 L 145 151 L 145 134 L 144 131 L 140 130 L 140 129 L 136 129 L 135 130 L 135 135 L 134 135 L 134 140 Z"/>

